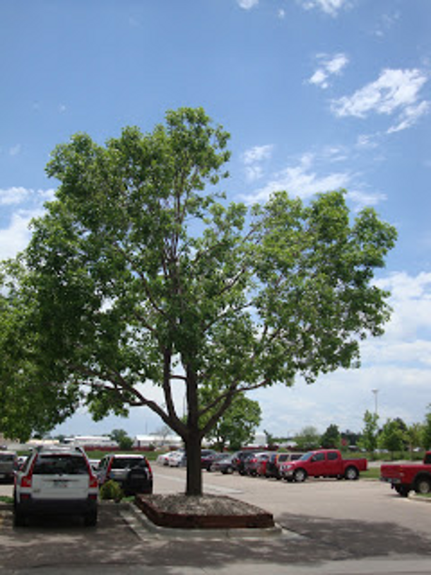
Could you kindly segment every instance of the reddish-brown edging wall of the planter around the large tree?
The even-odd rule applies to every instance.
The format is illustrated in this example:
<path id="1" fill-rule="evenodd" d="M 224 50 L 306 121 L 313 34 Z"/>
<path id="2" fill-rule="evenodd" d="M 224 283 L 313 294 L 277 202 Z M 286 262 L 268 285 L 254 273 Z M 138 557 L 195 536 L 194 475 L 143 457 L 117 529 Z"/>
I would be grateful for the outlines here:
<path id="1" fill-rule="evenodd" d="M 273 528 L 274 518 L 266 511 L 247 515 L 197 515 L 170 513 L 158 509 L 145 495 L 136 495 L 135 503 L 150 521 L 174 529 L 264 529 Z"/>

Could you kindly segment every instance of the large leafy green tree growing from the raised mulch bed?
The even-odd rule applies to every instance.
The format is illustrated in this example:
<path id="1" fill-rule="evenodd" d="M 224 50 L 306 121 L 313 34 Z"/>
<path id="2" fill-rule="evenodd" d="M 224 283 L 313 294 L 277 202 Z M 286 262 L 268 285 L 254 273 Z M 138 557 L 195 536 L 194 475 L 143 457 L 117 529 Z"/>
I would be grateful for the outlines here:
<path id="1" fill-rule="evenodd" d="M 158 414 L 184 441 L 189 495 L 201 440 L 237 395 L 358 366 L 360 340 L 389 318 L 372 279 L 395 229 L 372 209 L 351 221 L 343 191 L 227 204 L 215 186 L 228 138 L 201 108 L 105 146 L 76 134 L 52 153 L 60 185 L 25 252 L 49 381 L 84 393 L 95 417 Z"/>

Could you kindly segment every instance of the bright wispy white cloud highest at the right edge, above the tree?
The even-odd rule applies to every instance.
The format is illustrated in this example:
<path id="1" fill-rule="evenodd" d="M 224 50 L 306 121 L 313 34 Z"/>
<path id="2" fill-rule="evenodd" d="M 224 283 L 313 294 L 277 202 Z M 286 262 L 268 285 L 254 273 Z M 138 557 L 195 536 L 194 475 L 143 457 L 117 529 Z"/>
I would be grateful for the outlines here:
<path id="1" fill-rule="evenodd" d="M 371 113 L 392 115 L 398 113 L 398 124 L 388 132 L 398 132 L 411 127 L 430 108 L 420 101 L 420 90 L 427 82 L 427 75 L 418 69 L 382 71 L 379 78 L 350 96 L 343 96 L 331 103 L 332 112 L 338 117 L 365 118 Z"/>

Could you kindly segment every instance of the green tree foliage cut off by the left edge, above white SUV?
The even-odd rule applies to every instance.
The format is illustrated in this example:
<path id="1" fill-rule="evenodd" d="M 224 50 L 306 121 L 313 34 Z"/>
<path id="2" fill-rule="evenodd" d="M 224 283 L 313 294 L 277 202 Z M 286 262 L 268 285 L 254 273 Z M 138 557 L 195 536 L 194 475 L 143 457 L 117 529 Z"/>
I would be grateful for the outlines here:
<path id="1" fill-rule="evenodd" d="M 78 407 L 78 390 L 53 385 L 37 361 L 35 302 L 19 259 L 2 262 L 0 290 L 0 432 L 25 442 L 69 417 Z"/>

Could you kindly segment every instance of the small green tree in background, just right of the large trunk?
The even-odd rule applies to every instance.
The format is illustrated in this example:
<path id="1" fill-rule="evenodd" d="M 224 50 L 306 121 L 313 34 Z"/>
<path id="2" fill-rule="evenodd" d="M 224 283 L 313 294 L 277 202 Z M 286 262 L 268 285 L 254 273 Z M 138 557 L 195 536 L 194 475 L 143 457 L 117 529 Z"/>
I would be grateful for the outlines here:
<path id="1" fill-rule="evenodd" d="M 211 417 L 211 412 L 207 417 Z M 250 400 L 242 394 L 237 395 L 230 407 L 208 432 L 206 438 L 215 441 L 220 451 L 223 451 L 227 445 L 236 451 L 252 441 L 260 422 L 259 402 Z"/>

